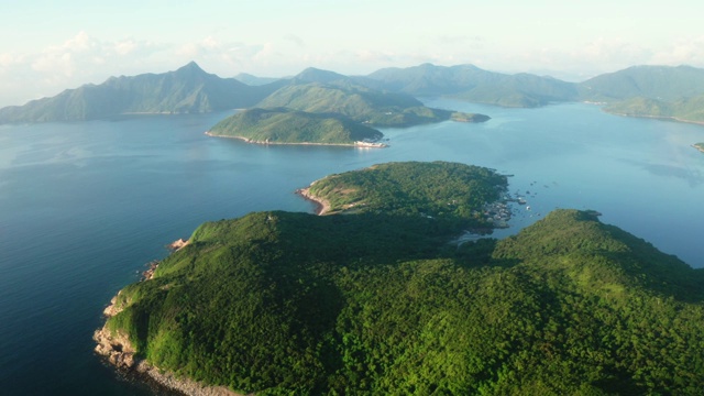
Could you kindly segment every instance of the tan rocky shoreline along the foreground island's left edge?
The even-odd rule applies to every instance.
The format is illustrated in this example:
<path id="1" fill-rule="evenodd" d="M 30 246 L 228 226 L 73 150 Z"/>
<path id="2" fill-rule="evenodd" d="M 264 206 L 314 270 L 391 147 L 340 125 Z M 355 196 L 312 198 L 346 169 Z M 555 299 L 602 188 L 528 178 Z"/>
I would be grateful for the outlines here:
<path id="1" fill-rule="evenodd" d="M 188 241 L 178 240 L 169 246 L 178 250 L 187 244 Z M 157 266 L 158 262 L 150 263 L 150 268 L 144 272 L 142 282 L 151 280 Z M 118 292 L 110 300 L 110 305 L 103 310 L 102 314 L 106 318 L 111 318 L 122 311 L 123 307 L 118 306 L 118 297 L 121 293 L 122 290 Z M 132 345 L 127 334 L 119 331 L 110 331 L 107 323 L 101 329 L 95 331 L 92 339 L 97 343 L 95 352 L 103 356 L 108 363 L 128 374 L 133 373 L 145 376 L 145 378 L 153 381 L 157 386 L 193 396 L 242 396 L 224 386 L 207 386 L 189 378 L 176 377 L 173 373 L 150 364 L 145 360 L 136 356 L 136 349 Z"/>

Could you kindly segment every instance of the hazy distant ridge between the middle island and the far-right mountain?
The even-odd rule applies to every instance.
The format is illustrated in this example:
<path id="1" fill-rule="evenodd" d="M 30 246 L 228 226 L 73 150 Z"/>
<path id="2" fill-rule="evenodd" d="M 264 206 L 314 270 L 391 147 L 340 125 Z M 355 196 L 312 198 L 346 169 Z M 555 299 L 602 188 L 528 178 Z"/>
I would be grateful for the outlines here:
<path id="1" fill-rule="evenodd" d="M 579 98 L 571 82 L 530 74 L 493 73 L 473 65 L 387 68 L 366 76 L 366 80 L 376 81 L 376 88 L 414 96 L 446 96 L 504 107 L 538 107 Z"/>

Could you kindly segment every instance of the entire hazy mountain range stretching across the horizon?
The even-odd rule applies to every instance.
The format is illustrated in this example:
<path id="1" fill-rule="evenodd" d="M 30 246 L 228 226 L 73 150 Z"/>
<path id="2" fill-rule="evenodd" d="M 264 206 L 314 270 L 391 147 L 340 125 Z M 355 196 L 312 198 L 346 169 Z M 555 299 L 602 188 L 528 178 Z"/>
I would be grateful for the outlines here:
<path id="1" fill-rule="evenodd" d="M 342 98 L 341 90 L 355 92 L 353 97 Z M 300 97 L 296 99 L 296 96 Z M 421 106 L 413 97 L 449 97 L 522 108 L 593 101 L 605 103 L 606 111 L 619 114 L 701 122 L 704 121 L 704 112 L 698 105 L 704 102 L 704 69 L 635 66 L 578 84 L 525 73 L 487 72 L 472 65 L 447 67 L 424 64 L 385 68 L 367 76 L 344 76 L 308 68 L 292 78 L 274 79 L 245 74 L 220 78 L 191 62 L 175 72 L 111 77 L 100 85 L 85 85 L 52 98 L 7 107 L 0 109 L 0 123 L 282 106 L 315 112 L 337 109 L 339 111 L 336 112 L 355 119 L 354 114 L 369 116 L 370 112 L 362 111 L 362 108 L 370 103 L 377 107 L 376 110 L 396 106 L 399 101 L 406 108 Z M 411 106 L 411 102 L 416 105 Z M 354 114 L 345 113 L 348 110 Z M 376 124 L 384 125 L 383 122 Z"/>

